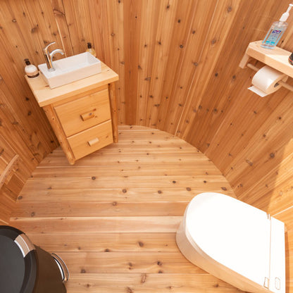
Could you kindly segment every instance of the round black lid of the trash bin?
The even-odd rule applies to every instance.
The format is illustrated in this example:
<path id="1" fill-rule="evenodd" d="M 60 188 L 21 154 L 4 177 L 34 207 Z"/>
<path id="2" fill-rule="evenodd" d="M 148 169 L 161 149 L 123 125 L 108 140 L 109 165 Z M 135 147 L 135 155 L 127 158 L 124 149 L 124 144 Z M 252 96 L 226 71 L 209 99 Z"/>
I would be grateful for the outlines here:
<path id="1" fill-rule="evenodd" d="M 19 235 L 23 232 L 0 225 L 0 284 L 3 293 L 32 293 L 35 287 L 35 249 L 25 254 L 15 242 Z"/>

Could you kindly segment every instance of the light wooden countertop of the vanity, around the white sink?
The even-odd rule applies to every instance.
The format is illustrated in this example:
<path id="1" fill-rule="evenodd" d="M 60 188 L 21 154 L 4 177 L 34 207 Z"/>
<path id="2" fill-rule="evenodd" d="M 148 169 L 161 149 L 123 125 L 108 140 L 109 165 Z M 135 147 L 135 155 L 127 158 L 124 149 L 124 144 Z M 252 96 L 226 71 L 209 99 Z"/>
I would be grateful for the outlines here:
<path id="1" fill-rule="evenodd" d="M 50 89 L 41 73 L 35 78 L 29 78 L 25 75 L 25 79 L 28 85 L 30 85 L 30 89 L 32 89 L 39 106 L 43 107 L 55 103 L 56 101 L 66 99 L 69 96 L 80 94 L 85 91 L 85 89 L 90 90 L 115 82 L 119 77 L 117 73 L 101 62 L 101 73 L 83 78 L 82 80 L 77 80 L 76 82 L 71 82 L 68 85 L 56 87 L 55 89 Z"/>

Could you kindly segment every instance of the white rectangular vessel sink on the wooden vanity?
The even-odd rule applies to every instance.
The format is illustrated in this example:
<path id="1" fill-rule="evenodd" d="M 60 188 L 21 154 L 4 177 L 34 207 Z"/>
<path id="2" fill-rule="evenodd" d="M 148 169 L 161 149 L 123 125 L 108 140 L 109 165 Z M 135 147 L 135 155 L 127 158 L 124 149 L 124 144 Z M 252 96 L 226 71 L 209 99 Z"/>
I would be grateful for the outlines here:
<path id="1" fill-rule="evenodd" d="M 52 62 L 55 70 L 48 71 L 46 63 L 40 64 L 44 80 L 51 89 L 101 73 L 101 61 L 89 52 L 62 58 Z"/>

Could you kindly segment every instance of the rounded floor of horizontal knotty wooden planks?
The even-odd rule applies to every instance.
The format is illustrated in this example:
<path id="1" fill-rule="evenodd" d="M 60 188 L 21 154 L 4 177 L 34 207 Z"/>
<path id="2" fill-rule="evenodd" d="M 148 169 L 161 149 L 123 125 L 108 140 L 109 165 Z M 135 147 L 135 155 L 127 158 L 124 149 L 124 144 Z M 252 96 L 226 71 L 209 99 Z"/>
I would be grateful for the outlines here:
<path id="1" fill-rule="evenodd" d="M 18 197 L 11 225 L 60 255 L 75 292 L 239 292 L 186 260 L 175 232 L 199 192 L 234 197 L 193 146 L 166 132 L 121 126 L 111 144 L 70 166 L 60 148 Z"/>

